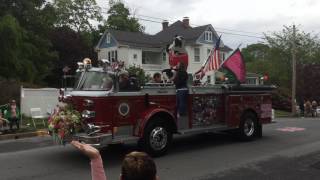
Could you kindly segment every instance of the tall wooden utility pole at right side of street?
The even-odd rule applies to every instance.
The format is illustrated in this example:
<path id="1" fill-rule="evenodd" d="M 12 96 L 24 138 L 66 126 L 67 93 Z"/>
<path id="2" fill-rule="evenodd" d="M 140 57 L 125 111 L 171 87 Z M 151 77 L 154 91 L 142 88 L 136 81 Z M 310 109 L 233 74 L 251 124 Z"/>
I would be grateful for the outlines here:
<path id="1" fill-rule="evenodd" d="M 296 113 L 296 26 L 292 29 L 292 94 L 291 94 L 291 113 Z"/>

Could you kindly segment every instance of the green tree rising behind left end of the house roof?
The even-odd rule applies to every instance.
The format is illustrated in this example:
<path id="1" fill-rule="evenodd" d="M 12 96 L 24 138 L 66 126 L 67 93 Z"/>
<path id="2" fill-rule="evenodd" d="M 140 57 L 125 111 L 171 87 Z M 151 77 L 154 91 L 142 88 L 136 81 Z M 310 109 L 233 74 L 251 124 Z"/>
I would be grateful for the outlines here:
<path id="1" fill-rule="evenodd" d="M 121 1 L 110 1 L 110 9 L 108 10 L 108 19 L 105 27 L 108 29 L 144 32 L 144 27 L 139 23 L 138 19 L 130 17 L 130 11 Z"/>

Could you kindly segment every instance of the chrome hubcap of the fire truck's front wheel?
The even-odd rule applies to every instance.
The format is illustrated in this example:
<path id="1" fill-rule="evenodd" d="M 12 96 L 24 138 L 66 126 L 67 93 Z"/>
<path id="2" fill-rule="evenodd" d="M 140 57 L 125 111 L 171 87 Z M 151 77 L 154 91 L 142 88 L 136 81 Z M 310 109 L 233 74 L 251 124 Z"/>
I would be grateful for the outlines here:
<path id="1" fill-rule="evenodd" d="M 168 132 L 163 127 L 156 127 L 150 133 L 150 145 L 154 150 L 163 149 L 168 142 Z"/>

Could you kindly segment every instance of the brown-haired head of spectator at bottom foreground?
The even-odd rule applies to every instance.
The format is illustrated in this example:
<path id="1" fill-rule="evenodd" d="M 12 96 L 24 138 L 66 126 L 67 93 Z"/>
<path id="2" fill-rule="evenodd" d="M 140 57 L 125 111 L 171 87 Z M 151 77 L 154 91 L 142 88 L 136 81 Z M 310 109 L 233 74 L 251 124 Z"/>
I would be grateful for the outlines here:
<path id="1" fill-rule="evenodd" d="M 143 152 L 131 152 L 122 162 L 122 180 L 156 180 L 156 164 Z"/>

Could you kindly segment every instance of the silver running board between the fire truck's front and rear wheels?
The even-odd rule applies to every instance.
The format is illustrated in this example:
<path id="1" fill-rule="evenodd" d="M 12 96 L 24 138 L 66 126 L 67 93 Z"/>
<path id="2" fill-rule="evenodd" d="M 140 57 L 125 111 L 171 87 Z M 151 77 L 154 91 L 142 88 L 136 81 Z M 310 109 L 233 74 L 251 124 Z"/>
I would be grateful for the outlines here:
<path id="1" fill-rule="evenodd" d="M 213 125 L 207 127 L 195 127 L 192 129 L 184 129 L 178 131 L 178 134 L 185 135 L 185 134 L 201 134 L 201 133 L 209 133 L 209 132 L 216 132 L 216 131 L 224 131 L 232 129 L 226 125 Z"/>

